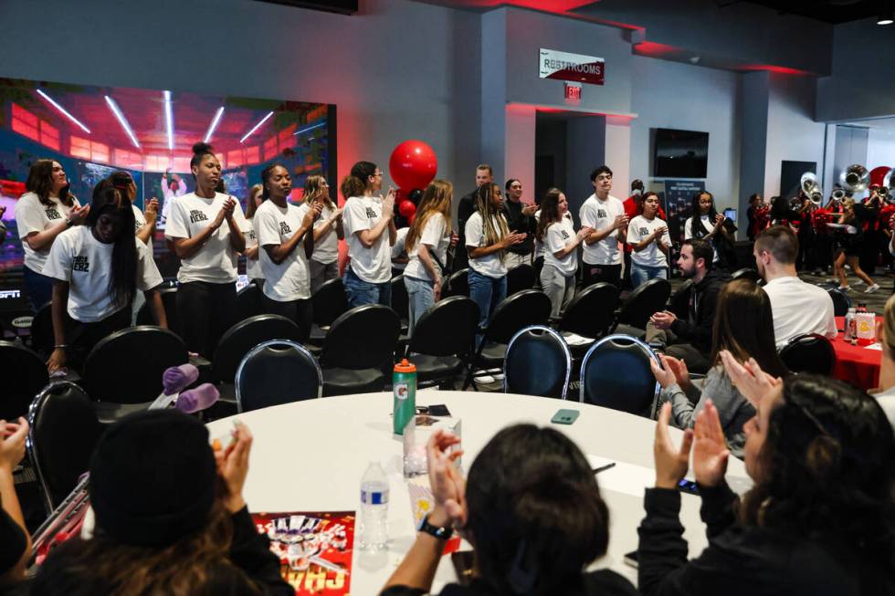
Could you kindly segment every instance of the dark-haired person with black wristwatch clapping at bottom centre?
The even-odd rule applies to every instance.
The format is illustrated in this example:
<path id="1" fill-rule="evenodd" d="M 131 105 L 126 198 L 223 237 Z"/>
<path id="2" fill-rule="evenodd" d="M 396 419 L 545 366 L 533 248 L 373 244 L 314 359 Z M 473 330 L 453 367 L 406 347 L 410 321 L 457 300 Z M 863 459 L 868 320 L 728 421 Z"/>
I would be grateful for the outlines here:
<path id="1" fill-rule="evenodd" d="M 457 455 L 445 453 L 458 442 L 443 431 L 429 441 L 436 504 L 426 522 L 461 531 L 476 564 L 469 586 L 450 584 L 443 596 L 637 594 L 613 571 L 584 571 L 605 554 L 609 512 L 587 459 L 565 435 L 532 424 L 506 428 L 476 457 L 469 482 Z M 444 546 L 421 531 L 382 594 L 428 593 Z"/>

